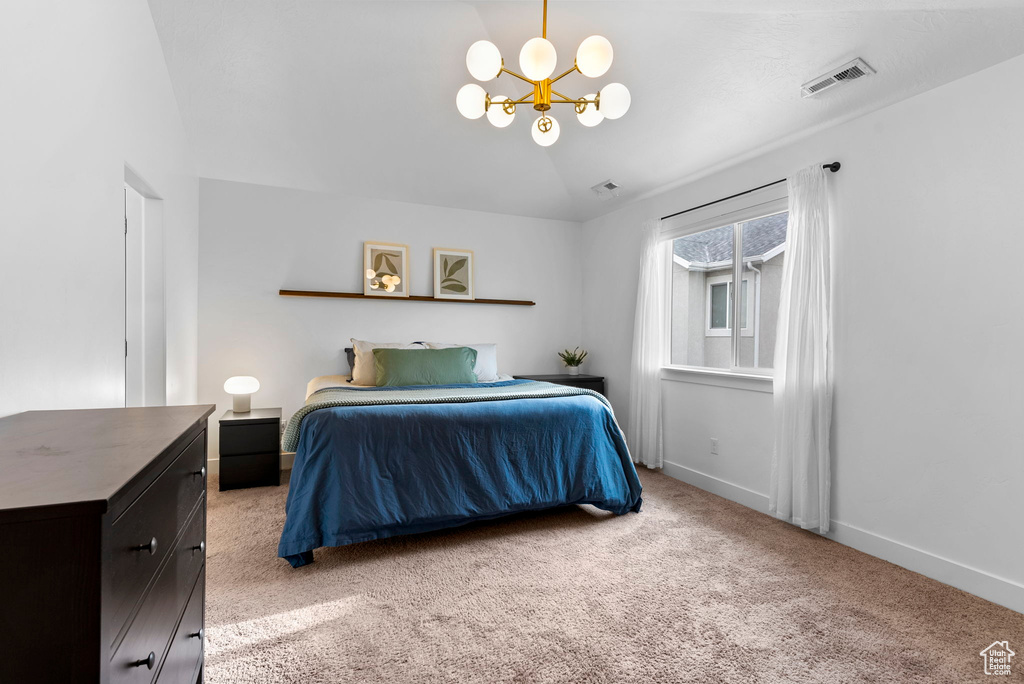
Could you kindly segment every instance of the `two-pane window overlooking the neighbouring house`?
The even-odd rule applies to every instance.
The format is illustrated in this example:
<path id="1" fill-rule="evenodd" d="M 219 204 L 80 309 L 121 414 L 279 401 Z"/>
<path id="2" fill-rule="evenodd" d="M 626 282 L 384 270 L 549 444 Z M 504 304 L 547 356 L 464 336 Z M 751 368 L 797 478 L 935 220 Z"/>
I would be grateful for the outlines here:
<path id="1" fill-rule="evenodd" d="M 731 222 L 706 219 L 676 229 L 679 237 L 672 241 L 671 257 L 673 366 L 736 371 L 772 367 L 788 220 L 788 213 L 779 211 L 784 206 L 784 201 L 769 203 L 719 219 L 735 215 Z"/>

